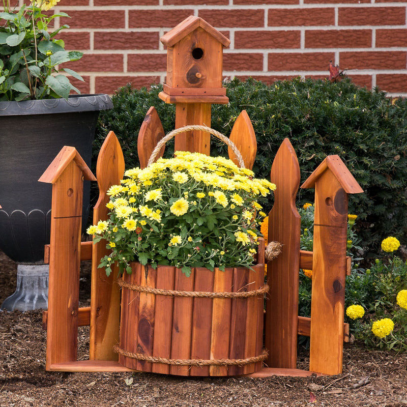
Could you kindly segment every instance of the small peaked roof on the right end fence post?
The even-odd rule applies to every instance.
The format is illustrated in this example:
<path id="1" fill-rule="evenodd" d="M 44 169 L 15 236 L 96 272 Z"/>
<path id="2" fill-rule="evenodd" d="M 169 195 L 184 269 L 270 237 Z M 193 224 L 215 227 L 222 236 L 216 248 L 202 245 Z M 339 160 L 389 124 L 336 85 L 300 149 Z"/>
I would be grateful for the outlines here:
<path id="1" fill-rule="evenodd" d="M 363 189 L 355 180 L 351 171 L 347 169 L 338 155 L 328 156 L 319 164 L 315 171 L 312 172 L 308 179 L 301 185 L 301 188 L 315 188 L 316 180 L 321 177 L 327 169 L 333 173 L 346 193 L 359 194 L 363 192 Z"/>

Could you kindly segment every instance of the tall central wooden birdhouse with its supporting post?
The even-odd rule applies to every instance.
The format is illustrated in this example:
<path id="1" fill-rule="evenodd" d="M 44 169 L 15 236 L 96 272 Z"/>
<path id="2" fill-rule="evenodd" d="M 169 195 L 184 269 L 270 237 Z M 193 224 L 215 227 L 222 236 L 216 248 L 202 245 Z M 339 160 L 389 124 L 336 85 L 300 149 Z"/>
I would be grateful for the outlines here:
<path id="1" fill-rule="evenodd" d="M 160 99 L 176 104 L 178 129 L 187 125 L 211 127 L 212 103 L 228 103 L 222 87 L 223 47 L 230 41 L 202 18 L 190 16 L 161 42 L 167 47 L 167 77 Z M 175 151 L 210 154 L 210 134 L 180 133 Z"/>

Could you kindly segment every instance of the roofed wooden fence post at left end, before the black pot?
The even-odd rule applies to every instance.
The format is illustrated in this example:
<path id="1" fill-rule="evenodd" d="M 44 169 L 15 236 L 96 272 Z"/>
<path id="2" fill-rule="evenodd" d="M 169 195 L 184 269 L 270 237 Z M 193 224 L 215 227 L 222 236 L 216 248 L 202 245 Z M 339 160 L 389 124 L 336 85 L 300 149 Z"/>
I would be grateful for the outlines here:
<path id="1" fill-rule="evenodd" d="M 66 146 L 38 180 L 52 184 L 47 370 L 77 358 L 83 180 L 96 178 Z"/>

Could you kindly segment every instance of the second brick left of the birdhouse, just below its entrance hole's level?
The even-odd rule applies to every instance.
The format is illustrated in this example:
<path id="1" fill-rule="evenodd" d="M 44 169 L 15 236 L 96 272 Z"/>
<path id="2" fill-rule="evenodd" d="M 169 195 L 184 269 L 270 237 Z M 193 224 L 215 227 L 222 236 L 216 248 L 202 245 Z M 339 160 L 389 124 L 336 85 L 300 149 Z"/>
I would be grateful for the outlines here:
<path id="1" fill-rule="evenodd" d="M 66 66 L 77 72 L 123 72 L 123 55 L 84 54 L 79 61 L 69 62 Z"/>

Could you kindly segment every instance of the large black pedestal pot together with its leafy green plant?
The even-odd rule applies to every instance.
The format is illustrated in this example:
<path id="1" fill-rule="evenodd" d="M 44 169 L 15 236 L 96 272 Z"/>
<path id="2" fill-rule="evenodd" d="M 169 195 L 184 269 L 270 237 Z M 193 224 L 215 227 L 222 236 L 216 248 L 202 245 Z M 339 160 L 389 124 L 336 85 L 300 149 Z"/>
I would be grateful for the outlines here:
<path id="1" fill-rule="evenodd" d="M 68 27 L 53 27 L 55 17 L 68 17 L 49 12 L 59 1 L 12 8 L 4 0 L 0 13 L 0 249 L 18 264 L 16 292 L 1 309 L 47 308 L 51 190 L 38 179 L 65 145 L 90 165 L 99 112 L 112 107 L 108 95 L 70 96 L 79 91 L 67 75 L 83 79 L 64 63 L 82 52 L 56 38 Z"/>

